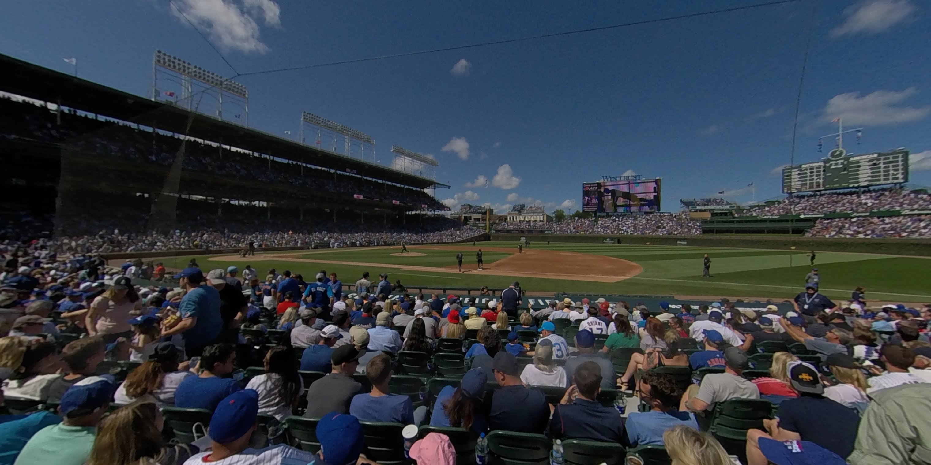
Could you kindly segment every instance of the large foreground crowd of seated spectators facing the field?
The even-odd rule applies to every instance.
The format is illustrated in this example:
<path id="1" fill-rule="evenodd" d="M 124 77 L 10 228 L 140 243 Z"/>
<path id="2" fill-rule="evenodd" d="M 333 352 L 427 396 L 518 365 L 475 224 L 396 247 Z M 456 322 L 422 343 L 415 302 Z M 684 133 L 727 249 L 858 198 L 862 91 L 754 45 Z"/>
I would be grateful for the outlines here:
<path id="1" fill-rule="evenodd" d="M 479 306 L 385 273 L 235 266 L 156 288 L 130 263 L 3 252 L 0 463 L 891 465 L 931 447 L 931 306 L 809 286 L 792 312 L 527 309 L 518 283 Z"/>

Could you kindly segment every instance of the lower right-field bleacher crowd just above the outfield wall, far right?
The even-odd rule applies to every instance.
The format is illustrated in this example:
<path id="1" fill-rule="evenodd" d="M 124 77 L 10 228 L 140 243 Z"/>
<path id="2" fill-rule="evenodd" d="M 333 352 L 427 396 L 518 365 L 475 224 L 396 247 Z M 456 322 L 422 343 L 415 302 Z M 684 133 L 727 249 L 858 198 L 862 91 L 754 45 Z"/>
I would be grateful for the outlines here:
<path id="1" fill-rule="evenodd" d="M 818 219 L 815 226 L 805 231 L 805 236 L 864 239 L 928 238 L 931 237 L 931 215 Z"/>

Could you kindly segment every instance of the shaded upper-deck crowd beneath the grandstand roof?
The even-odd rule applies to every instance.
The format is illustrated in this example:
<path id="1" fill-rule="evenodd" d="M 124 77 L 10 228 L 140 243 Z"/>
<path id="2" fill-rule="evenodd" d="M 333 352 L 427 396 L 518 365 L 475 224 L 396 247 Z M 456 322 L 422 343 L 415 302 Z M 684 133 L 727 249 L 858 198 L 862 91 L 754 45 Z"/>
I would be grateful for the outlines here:
<path id="1" fill-rule="evenodd" d="M 131 163 L 169 169 L 182 153 L 182 170 L 312 192 L 361 195 L 387 204 L 415 206 L 425 210 L 448 210 L 420 189 L 362 179 L 313 166 L 302 166 L 280 158 L 256 155 L 198 140 L 182 140 L 163 132 L 152 132 L 113 120 L 94 119 L 78 113 L 56 114 L 46 107 L 0 99 L 0 138 L 61 143 L 70 151 L 115 157 Z M 61 123 L 58 123 L 58 120 Z M 269 199 L 270 200 L 270 199 Z M 425 207 L 424 207 L 425 206 Z"/>

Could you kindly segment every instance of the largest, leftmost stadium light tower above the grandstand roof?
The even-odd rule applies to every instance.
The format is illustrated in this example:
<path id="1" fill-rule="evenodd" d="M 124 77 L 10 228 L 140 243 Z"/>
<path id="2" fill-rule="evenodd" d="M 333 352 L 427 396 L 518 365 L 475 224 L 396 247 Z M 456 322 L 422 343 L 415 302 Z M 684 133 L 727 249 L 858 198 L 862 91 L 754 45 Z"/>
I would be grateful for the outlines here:
<path id="1" fill-rule="evenodd" d="M 201 108 L 204 97 L 216 102 L 212 109 Z M 249 90 L 232 79 L 211 73 L 161 50 L 152 57 L 152 100 L 216 116 L 223 120 L 223 106 L 233 106 L 232 123 L 249 126 Z"/>

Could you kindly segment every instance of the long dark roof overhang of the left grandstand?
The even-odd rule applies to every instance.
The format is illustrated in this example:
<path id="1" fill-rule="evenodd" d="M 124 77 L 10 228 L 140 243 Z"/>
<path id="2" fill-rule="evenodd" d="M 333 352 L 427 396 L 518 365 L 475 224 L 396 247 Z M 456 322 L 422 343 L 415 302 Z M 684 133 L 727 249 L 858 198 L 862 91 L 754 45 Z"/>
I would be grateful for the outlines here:
<path id="1" fill-rule="evenodd" d="M 387 166 L 331 153 L 245 126 L 189 112 L 112 87 L 0 54 L 0 90 L 61 104 L 88 113 L 150 126 L 193 138 L 219 142 L 309 165 L 349 172 L 371 179 L 424 189 L 449 188 L 434 179 L 403 173 Z"/>

